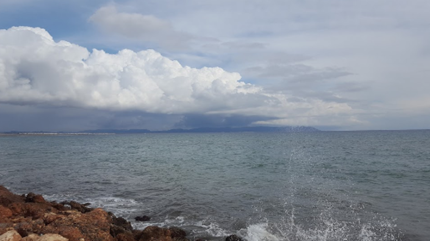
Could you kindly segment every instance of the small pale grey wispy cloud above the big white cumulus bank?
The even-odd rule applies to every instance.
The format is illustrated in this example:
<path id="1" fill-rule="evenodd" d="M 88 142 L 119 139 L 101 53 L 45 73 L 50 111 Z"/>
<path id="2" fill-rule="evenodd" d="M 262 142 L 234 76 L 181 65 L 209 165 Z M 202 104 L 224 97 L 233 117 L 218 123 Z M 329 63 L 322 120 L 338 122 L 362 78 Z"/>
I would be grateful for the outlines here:
<path id="1" fill-rule="evenodd" d="M 188 48 L 188 42 L 192 39 L 190 34 L 176 31 L 169 21 L 153 15 L 118 12 L 113 5 L 99 8 L 88 21 L 108 33 L 169 49 Z"/>

